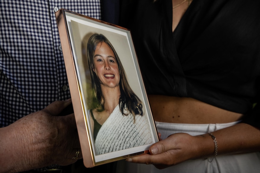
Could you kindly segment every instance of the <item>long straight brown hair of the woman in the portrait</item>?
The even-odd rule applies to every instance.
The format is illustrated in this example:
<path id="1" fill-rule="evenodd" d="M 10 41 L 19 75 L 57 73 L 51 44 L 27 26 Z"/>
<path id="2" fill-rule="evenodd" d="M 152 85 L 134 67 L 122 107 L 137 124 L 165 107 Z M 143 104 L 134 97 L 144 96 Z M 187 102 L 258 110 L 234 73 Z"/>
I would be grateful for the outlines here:
<path id="1" fill-rule="evenodd" d="M 113 47 L 113 45 L 109 42 L 109 40 L 102 34 L 93 34 L 90 36 L 88 42 L 87 42 L 87 59 L 88 59 L 88 64 L 89 64 L 89 69 L 90 69 L 90 76 L 91 76 L 91 81 L 92 81 L 92 88 L 94 88 L 95 95 L 100 103 L 100 111 L 104 110 L 104 103 L 105 103 L 105 98 L 103 96 L 103 93 L 101 91 L 101 86 L 100 86 L 100 80 L 98 79 L 96 73 L 93 72 L 93 67 L 94 67 L 94 54 L 95 50 L 97 48 L 97 45 L 99 43 L 105 43 L 111 48 L 111 50 L 115 54 L 115 58 L 119 67 L 119 74 L 120 74 L 120 81 L 119 81 L 119 88 L 121 95 L 119 97 L 119 107 L 122 115 L 127 116 L 128 112 L 124 112 L 124 110 L 128 110 L 130 113 L 135 115 L 143 115 L 143 110 L 142 110 L 142 102 L 138 98 L 138 96 L 132 91 L 126 75 L 125 75 L 125 70 L 122 66 L 122 63 Z"/>

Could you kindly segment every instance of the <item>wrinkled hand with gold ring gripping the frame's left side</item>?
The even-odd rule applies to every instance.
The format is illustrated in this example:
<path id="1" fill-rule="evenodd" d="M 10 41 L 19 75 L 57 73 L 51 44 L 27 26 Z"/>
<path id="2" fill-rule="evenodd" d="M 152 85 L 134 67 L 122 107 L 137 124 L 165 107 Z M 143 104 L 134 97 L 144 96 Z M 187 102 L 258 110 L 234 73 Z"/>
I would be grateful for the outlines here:
<path id="1" fill-rule="evenodd" d="M 22 171 L 52 164 L 69 165 L 77 161 L 72 159 L 76 148 L 80 148 L 74 114 L 59 116 L 69 104 L 71 100 L 55 101 L 7 127 L 12 132 L 11 140 L 18 142 L 11 146 L 16 152 L 11 157 L 14 160 L 19 158 L 17 164 Z"/>

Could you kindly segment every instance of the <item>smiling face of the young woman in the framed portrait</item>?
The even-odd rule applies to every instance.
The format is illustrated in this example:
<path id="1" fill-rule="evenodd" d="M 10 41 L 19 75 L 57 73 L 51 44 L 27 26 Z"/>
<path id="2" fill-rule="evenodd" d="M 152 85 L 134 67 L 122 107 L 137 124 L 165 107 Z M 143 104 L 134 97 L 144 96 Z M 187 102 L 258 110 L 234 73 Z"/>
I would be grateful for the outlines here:
<path id="1" fill-rule="evenodd" d="M 109 46 L 101 42 L 94 53 L 94 73 L 101 82 L 101 86 L 115 88 L 119 86 L 120 74 L 114 52 Z"/>

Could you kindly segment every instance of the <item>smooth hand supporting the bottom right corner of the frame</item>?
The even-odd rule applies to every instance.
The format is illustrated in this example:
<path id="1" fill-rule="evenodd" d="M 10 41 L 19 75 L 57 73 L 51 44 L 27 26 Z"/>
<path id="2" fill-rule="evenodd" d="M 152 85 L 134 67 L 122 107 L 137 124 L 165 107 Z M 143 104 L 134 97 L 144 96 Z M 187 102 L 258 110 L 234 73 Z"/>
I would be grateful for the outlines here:
<path id="1" fill-rule="evenodd" d="M 186 133 L 172 134 L 149 148 L 148 154 L 126 159 L 128 162 L 153 164 L 158 169 L 177 165 L 200 155 L 199 137 Z"/>

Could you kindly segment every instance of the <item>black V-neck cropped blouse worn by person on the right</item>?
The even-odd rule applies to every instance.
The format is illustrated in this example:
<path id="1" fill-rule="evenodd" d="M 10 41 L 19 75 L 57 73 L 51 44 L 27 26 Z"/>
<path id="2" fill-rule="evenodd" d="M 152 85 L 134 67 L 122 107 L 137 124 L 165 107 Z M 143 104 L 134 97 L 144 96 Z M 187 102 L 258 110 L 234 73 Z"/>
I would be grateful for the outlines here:
<path id="1" fill-rule="evenodd" d="M 193 0 L 174 32 L 172 0 L 131 0 L 124 12 L 147 94 L 192 97 L 259 124 L 260 1 Z"/>

